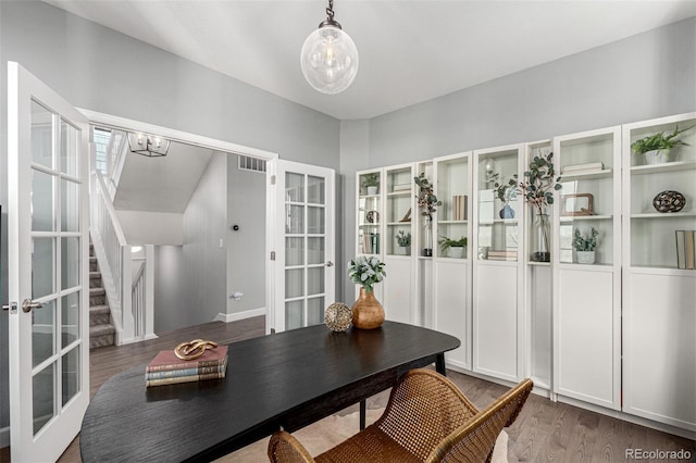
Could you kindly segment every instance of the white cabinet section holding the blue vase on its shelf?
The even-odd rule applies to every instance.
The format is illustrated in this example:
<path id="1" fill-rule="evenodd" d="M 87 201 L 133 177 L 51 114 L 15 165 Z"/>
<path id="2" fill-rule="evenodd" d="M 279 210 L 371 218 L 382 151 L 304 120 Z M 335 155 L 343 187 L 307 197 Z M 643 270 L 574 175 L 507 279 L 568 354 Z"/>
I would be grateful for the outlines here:
<path id="1" fill-rule="evenodd" d="M 474 151 L 473 371 L 517 381 L 523 352 L 522 198 L 499 190 L 520 177 L 522 146 Z"/>

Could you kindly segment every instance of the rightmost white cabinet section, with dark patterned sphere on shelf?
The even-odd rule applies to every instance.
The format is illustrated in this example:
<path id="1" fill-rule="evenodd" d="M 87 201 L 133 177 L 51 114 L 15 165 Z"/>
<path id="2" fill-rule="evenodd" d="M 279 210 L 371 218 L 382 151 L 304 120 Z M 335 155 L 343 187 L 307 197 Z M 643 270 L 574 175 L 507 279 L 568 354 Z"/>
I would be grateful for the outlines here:
<path id="1" fill-rule="evenodd" d="M 696 270 L 679 268 L 687 251 L 676 247 L 678 230 L 696 234 L 696 128 L 669 162 L 631 153 L 637 139 L 692 126 L 696 113 L 623 126 L 623 410 L 696 431 Z M 662 191 L 686 204 L 657 212 Z"/>

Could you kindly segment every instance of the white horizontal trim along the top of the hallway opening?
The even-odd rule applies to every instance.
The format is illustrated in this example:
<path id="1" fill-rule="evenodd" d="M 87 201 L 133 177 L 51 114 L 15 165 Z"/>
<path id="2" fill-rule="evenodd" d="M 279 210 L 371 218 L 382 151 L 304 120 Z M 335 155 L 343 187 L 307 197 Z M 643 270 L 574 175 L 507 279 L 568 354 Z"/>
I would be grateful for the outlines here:
<path id="1" fill-rule="evenodd" d="M 126 132 L 152 133 L 160 135 L 163 138 L 167 138 L 172 141 L 179 141 L 187 145 L 195 145 L 202 148 L 210 148 L 213 150 L 226 151 L 235 154 L 252 155 L 257 158 L 263 158 L 265 160 L 278 159 L 278 154 L 271 151 L 245 147 L 243 145 L 232 143 L 215 138 L 208 138 L 188 132 L 176 130 L 174 128 L 162 127 L 160 125 L 153 125 L 145 122 L 134 121 L 130 118 L 104 114 L 83 108 L 77 108 L 77 111 L 83 113 L 91 124 L 101 124 Z"/>

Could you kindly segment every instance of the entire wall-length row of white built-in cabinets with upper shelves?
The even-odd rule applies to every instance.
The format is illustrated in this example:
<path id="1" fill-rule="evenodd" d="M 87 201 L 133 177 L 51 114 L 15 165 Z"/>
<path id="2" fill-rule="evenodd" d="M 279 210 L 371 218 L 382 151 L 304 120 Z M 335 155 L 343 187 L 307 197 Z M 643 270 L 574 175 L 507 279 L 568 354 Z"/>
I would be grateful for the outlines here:
<path id="1" fill-rule="evenodd" d="M 459 338 L 446 353 L 456 370 L 507 384 L 531 377 L 551 399 L 695 436 L 696 270 L 679 267 L 686 251 L 675 232 L 696 233 L 696 127 L 667 163 L 631 153 L 633 141 L 678 126 L 696 126 L 696 113 L 358 172 L 356 253 L 387 263 L 375 287 L 387 318 Z M 546 211 L 546 262 L 534 252 L 536 212 L 521 197 L 506 204 L 496 184 L 524 179 L 549 152 L 562 189 Z M 430 225 L 414 199 L 421 173 L 443 202 Z M 376 191 L 363 185 L 370 174 Z M 686 205 L 656 211 L 662 191 Z M 574 232 L 593 228 L 595 262 L 580 263 Z M 409 251 L 399 233 L 411 235 Z M 442 250 L 444 237 L 465 237 L 463 253 Z"/>

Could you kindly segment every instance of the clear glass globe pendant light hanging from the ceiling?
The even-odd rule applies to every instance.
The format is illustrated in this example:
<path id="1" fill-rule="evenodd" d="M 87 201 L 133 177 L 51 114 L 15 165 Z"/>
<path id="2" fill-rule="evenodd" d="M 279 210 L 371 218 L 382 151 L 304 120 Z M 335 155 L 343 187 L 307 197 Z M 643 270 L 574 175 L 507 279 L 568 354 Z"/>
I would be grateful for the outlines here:
<path id="1" fill-rule="evenodd" d="M 322 93 L 339 93 L 358 75 L 358 49 L 350 36 L 334 21 L 334 1 L 328 0 L 326 21 L 307 37 L 300 53 L 304 78 Z"/>

